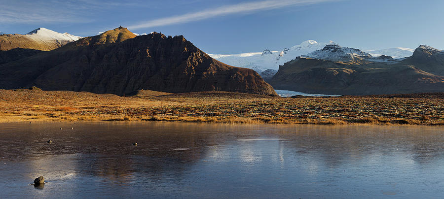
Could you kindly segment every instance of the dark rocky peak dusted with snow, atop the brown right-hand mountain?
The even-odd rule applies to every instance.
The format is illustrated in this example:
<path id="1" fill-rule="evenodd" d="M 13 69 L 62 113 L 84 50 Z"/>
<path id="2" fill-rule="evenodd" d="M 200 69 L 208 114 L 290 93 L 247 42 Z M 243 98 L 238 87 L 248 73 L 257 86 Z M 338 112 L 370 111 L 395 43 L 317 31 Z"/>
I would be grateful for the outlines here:
<path id="1" fill-rule="evenodd" d="M 318 60 L 329 60 L 333 62 L 348 62 L 360 63 L 361 61 L 371 62 L 391 62 L 395 61 L 390 56 L 373 57 L 370 53 L 366 53 L 356 48 L 341 47 L 337 44 L 326 45 L 321 50 L 315 50 L 306 55 L 300 56 L 302 58 L 311 58 Z"/>

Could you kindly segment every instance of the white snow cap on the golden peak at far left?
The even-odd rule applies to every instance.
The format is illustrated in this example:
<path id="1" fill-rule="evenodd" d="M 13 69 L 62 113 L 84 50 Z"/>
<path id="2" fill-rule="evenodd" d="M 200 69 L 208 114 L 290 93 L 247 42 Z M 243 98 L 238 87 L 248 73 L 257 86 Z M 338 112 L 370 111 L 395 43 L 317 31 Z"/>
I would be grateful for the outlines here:
<path id="1" fill-rule="evenodd" d="M 37 41 L 57 41 L 58 43 L 61 44 L 66 44 L 68 42 L 71 41 L 76 41 L 80 38 L 82 38 L 81 36 L 74 36 L 70 33 L 57 33 L 55 31 L 51 31 L 49 29 L 45 29 L 45 28 L 38 28 L 34 31 L 31 31 L 27 34 L 25 34 L 25 36 L 27 36 L 30 39 L 33 40 L 37 40 Z"/>

